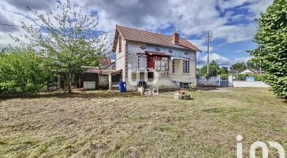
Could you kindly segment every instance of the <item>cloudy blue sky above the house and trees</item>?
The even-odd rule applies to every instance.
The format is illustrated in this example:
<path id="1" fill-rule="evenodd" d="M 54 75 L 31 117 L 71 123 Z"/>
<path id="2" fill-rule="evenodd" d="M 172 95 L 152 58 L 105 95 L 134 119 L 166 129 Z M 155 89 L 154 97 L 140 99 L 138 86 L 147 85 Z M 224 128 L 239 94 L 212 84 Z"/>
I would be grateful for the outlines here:
<path id="1" fill-rule="evenodd" d="M 212 31 L 210 61 L 220 66 L 247 61 L 246 52 L 256 47 L 252 42 L 257 24 L 254 18 L 265 13 L 272 0 L 71 0 L 75 6 L 89 6 L 99 22 L 98 31 L 107 33 L 109 44 L 113 40 L 116 24 L 144 31 L 171 35 L 176 29 L 202 50 L 197 56 L 200 65 L 206 64 L 205 35 Z M 0 24 L 33 26 L 33 15 L 26 7 L 45 13 L 56 10 L 56 0 L 1 0 Z M 178 16 L 183 20 L 178 22 Z M 23 35 L 20 27 L 0 25 L 0 49 L 17 45 L 10 35 Z M 111 49 L 111 47 L 109 47 Z"/>

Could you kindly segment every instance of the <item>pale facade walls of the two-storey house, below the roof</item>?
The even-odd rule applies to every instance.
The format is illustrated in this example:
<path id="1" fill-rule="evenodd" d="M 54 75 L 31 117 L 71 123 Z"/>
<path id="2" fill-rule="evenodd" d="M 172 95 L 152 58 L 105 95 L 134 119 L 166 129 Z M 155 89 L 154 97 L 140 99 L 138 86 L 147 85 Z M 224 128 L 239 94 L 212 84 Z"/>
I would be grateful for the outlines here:
<path id="1" fill-rule="evenodd" d="M 123 81 L 126 82 L 127 90 L 137 90 L 137 84 L 139 81 L 146 81 L 147 88 L 179 88 L 175 83 L 185 83 L 196 85 L 196 52 L 192 52 L 187 49 L 175 49 L 171 47 L 162 47 L 160 45 L 149 45 L 139 42 L 130 42 L 121 40 L 121 52 L 119 52 L 119 40 L 116 45 L 116 70 L 123 70 Z M 142 49 L 145 47 L 145 49 Z M 156 70 L 148 70 L 146 65 L 148 64 L 146 52 L 155 52 L 159 54 L 165 54 L 164 61 L 162 63 L 155 63 L 161 65 L 167 63 L 168 72 L 166 77 L 161 77 L 162 72 L 157 73 Z M 166 60 L 166 61 L 165 61 Z M 142 61 L 146 61 L 144 64 Z M 184 61 L 189 63 L 189 73 L 184 73 L 183 66 Z M 174 70 L 173 70 L 174 68 Z M 186 67 L 187 68 L 187 67 Z M 153 78 L 148 78 L 148 72 L 157 73 L 159 78 L 154 74 Z"/>

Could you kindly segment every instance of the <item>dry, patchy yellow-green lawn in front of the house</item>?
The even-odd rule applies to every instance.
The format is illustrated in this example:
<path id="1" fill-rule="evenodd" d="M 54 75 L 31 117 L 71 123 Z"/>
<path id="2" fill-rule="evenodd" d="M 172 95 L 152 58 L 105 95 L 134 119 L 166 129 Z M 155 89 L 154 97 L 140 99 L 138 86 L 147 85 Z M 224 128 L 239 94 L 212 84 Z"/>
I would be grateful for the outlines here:
<path id="1" fill-rule="evenodd" d="M 245 157 L 255 141 L 287 151 L 286 102 L 267 88 L 228 90 L 188 101 L 116 91 L 0 100 L 0 157 L 236 157 L 238 134 Z"/>

